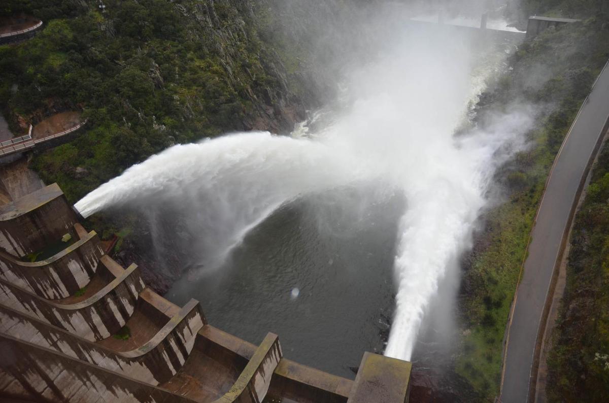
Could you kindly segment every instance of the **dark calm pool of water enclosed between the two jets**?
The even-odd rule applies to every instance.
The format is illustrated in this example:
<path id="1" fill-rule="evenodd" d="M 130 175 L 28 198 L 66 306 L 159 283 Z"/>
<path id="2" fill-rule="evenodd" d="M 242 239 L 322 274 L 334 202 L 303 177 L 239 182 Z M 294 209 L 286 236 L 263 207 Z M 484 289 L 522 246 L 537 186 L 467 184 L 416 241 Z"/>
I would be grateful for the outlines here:
<path id="1" fill-rule="evenodd" d="M 166 297 L 197 298 L 214 326 L 252 343 L 275 332 L 286 357 L 353 378 L 364 351 L 384 349 L 403 209 L 391 192 L 308 195 L 256 226 L 219 270 L 191 268 Z"/>

